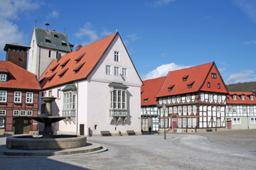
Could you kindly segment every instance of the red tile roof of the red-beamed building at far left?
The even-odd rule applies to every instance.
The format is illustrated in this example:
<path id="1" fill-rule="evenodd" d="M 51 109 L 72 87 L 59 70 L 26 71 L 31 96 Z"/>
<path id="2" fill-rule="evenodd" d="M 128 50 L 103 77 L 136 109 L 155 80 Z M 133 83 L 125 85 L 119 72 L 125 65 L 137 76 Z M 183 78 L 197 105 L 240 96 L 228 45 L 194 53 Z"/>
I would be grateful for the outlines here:
<path id="1" fill-rule="evenodd" d="M 0 61 L 0 70 L 6 69 L 9 71 L 7 81 L 0 81 L 0 88 L 41 90 L 35 74 L 12 62 Z"/>

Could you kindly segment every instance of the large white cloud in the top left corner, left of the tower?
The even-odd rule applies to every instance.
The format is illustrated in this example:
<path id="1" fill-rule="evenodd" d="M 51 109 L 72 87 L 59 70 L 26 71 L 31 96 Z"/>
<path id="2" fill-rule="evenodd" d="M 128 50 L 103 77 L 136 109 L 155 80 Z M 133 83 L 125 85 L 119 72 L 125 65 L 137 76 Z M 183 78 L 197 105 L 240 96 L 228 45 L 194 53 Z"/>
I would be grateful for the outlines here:
<path id="1" fill-rule="evenodd" d="M 19 14 L 39 8 L 37 1 L 31 0 L 5 0 L 0 3 L 0 48 L 3 49 L 6 43 L 23 43 L 23 33 L 14 23 Z"/>

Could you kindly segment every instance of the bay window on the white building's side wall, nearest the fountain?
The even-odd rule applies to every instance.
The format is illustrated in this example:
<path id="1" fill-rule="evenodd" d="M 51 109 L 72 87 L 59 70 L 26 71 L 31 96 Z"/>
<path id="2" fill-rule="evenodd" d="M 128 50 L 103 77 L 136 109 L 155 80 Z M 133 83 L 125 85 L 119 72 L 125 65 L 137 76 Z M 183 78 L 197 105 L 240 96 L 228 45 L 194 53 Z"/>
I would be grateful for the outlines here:
<path id="1" fill-rule="evenodd" d="M 63 116 L 75 116 L 75 91 L 63 92 Z"/>

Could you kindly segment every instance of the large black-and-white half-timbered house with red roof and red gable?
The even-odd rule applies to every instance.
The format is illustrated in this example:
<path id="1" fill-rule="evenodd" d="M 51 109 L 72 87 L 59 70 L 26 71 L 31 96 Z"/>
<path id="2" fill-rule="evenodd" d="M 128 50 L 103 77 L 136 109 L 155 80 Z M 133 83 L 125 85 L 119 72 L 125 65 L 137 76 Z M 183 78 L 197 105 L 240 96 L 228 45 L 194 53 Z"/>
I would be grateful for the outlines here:
<path id="1" fill-rule="evenodd" d="M 215 62 L 169 72 L 156 94 L 160 128 L 165 125 L 166 128 L 180 128 L 185 132 L 225 128 L 227 95 Z M 167 106 L 165 112 L 164 104 Z"/>

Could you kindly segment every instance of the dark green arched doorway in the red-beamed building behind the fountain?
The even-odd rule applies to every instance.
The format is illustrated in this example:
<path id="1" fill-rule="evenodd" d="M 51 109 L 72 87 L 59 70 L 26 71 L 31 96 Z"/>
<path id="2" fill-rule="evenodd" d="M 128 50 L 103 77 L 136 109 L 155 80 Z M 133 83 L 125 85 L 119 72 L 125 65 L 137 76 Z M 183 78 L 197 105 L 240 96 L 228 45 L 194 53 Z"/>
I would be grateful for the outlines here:
<path id="1" fill-rule="evenodd" d="M 14 118 L 13 120 L 13 132 L 17 134 L 28 134 L 31 129 L 30 118 Z"/>

